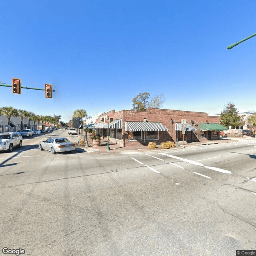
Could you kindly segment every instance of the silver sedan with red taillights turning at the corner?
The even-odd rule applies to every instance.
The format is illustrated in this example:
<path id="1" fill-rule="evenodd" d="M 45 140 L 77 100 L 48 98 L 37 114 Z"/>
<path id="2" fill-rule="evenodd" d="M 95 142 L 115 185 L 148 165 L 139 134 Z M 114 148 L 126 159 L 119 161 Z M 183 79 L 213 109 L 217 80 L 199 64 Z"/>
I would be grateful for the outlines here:
<path id="1" fill-rule="evenodd" d="M 48 138 L 40 142 L 39 148 L 40 150 L 48 150 L 52 154 L 76 149 L 74 142 L 71 142 L 67 138 Z"/>

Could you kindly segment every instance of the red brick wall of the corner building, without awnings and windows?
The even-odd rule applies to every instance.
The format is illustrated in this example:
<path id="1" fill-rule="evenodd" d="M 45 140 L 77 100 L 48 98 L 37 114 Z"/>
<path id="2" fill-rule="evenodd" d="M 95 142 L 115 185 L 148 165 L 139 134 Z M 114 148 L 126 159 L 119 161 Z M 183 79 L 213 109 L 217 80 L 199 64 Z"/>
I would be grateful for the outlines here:
<path id="1" fill-rule="evenodd" d="M 123 119 L 123 127 L 122 127 L 122 142 L 120 140 L 115 140 L 119 145 L 122 146 L 134 146 L 144 144 L 144 137 L 142 141 L 130 141 L 128 140 L 128 134 L 125 131 L 125 122 L 126 121 L 139 121 L 142 122 L 144 118 L 147 119 L 148 122 L 161 122 L 168 128 L 168 132 L 159 132 L 159 140 L 152 140 L 157 144 L 165 141 L 174 141 L 176 142 L 176 131 L 175 131 L 175 123 L 180 123 L 182 119 L 186 119 L 188 124 L 190 120 L 194 121 L 194 124 L 198 123 L 220 123 L 219 116 L 208 116 L 206 112 L 194 112 L 194 111 L 183 111 L 183 110 L 170 110 L 170 109 L 156 109 L 156 108 L 148 108 L 145 112 L 140 111 L 131 111 L 131 110 L 121 110 L 115 112 L 115 110 L 111 110 L 107 113 L 102 114 L 96 120 L 96 122 L 100 122 L 100 118 L 108 115 L 110 118 L 114 120 Z M 174 123 L 171 124 L 170 120 L 173 120 Z M 195 125 L 193 125 L 195 127 Z M 197 139 L 197 135 L 192 132 L 192 140 Z M 143 132 L 144 136 L 144 132 Z M 187 138 L 191 140 L 191 132 L 187 133 Z M 146 140 L 146 145 L 150 142 Z"/>

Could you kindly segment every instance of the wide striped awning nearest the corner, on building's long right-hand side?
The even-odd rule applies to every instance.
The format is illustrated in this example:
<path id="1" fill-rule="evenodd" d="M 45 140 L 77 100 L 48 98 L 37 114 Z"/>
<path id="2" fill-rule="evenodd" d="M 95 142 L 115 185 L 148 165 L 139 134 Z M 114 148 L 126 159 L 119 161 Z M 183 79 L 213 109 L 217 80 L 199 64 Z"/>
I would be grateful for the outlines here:
<path id="1" fill-rule="evenodd" d="M 139 131 L 168 131 L 160 122 L 125 122 L 126 132 Z"/>

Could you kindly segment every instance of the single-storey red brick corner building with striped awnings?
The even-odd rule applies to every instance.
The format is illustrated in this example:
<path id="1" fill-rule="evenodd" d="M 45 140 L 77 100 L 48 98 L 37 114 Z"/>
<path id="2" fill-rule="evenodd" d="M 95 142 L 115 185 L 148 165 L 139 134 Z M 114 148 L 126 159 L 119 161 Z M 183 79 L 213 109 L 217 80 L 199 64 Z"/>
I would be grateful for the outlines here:
<path id="1" fill-rule="evenodd" d="M 209 116 L 205 112 L 193 112 L 183 110 L 169 110 L 148 108 L 147 111 L 111 110 L 96 119 L 96 123 L 88 125 L 88 128 L 96 129 L 103 136 L 107 136 L 106 118 L 109 118 L 110 142 L 120 146 L 147 145 L 153 141 L 156 144 L 166 141 L 184 140 L 187 142 L 201 139 L 216 140 L 222 128 L 211 130 L 208 124 L 220 126 L 218 116 Z M 186 119 L 186 132 L 182 134 L 182 119 Z M 204 124 L 204 130 L 200 130 Z M 202 138 L 201 138 L 202 136 Z"/>

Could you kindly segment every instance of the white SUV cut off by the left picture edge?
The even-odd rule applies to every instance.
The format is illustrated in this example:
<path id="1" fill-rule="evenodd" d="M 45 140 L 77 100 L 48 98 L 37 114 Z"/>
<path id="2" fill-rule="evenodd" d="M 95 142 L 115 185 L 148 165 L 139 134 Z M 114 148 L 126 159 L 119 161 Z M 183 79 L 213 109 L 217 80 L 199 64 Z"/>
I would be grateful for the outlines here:
<path id="1" fill-rule="evenodd" d="M 12 152 L 14 147 L 22 147 L 22 136 L 18 132 L 0 133 L 0 151 L 9 150 Z"/>

